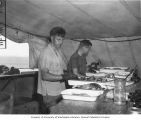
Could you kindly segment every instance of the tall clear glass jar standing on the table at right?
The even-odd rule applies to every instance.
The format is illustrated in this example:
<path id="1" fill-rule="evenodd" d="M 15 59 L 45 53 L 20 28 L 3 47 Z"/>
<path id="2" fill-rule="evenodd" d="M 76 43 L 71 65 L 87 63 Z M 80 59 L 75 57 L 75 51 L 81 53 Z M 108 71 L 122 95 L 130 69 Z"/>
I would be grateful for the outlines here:
<path id="1" fill-rule="evenodd" d="M 114 79 L 114 103 L 118 105 L 125 105 L 126 104 L 126 80 L 115 78 Z"/>

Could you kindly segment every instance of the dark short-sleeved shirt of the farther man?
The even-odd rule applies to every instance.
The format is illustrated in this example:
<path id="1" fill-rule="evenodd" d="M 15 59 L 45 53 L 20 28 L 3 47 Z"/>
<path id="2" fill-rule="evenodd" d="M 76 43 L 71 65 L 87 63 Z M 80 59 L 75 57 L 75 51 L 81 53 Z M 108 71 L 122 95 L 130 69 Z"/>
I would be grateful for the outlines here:
<path id="1" fill-rule="evenodd" d="M 87 66 L 86 56 L 80 56 L 78 52 L 75 52 L 70 58 L 67 69 L 68 72 L 72 74 L 73 69 L 77 68 L 79 74 L 85 75 L 86 66 Z"/>

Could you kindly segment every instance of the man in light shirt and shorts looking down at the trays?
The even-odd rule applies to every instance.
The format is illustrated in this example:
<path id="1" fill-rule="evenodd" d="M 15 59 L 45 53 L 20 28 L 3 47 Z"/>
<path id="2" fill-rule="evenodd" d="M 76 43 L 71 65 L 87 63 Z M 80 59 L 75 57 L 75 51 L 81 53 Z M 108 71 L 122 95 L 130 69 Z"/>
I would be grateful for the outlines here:
<path id="1" fill-rule="evenodd" d="M 50 31 L 50 43 L 41 52 L 39 58 L 39 79 L 37 92 L 43 96 L 47 107 L 55 105 L 61 99 L 61 91 L 65 88 L 65 80 L 73 78 L 64 74 L 66 62 L 60 48 L 65 37 L 62 27 L 54 27 Z"/>

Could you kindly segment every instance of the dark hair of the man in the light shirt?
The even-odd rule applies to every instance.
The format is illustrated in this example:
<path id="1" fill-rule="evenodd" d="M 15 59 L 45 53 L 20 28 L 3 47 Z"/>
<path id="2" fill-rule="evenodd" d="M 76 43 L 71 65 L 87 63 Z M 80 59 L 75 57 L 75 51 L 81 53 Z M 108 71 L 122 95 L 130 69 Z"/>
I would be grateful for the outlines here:
<path id="1" fill-rule="evenodd" d="M 66 34 L 66 31 L 62 27 L 54 27 L 50 31 L 50 36 L 58 35 L 58 36 L 64 37 L 65 34 Z"/>

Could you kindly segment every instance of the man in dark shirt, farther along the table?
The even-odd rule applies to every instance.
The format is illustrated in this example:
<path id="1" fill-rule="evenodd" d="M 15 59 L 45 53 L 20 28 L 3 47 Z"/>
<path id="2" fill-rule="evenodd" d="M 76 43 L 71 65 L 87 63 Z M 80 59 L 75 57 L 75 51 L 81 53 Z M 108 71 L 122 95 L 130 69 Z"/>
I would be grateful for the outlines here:
<path id="1" fill-rule="evenodd" d="M 68 72 L 75 74 L 78 77 L 84 76 L 87 70 L 86 57 L 92 47 L 92 43 L 89 40 L 82 40 L 79 44 L 76 52 L 71 56 L 68 63 Z"/>

